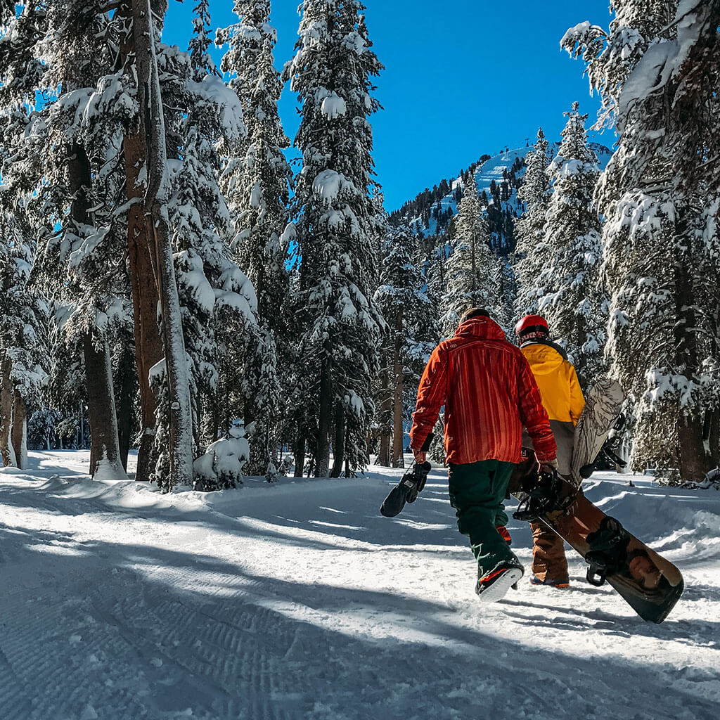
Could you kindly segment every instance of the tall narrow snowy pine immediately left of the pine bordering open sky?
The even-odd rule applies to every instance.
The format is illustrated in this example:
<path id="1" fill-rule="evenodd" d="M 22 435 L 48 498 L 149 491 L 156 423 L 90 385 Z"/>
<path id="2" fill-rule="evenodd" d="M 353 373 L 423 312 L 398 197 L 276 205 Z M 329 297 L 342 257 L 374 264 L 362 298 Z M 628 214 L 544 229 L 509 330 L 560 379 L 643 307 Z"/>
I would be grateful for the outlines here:
<path id="1" fill-rule="evenodd" d="M 264 474 L 277 462 L 282 429 L 280 397 L 285 394 L 278 371 L 289 365 L 289 274 L 287 271 L 289 191 L 292 170 L 284 156 L 289 145 L 277 104 L 282 81 L 274 67 L 276 32 L 270 24 L 269 0 L 238 0 L 240 23 L 218 33 L 228 42 L 222 70 L 233 73 L 246 118 L 246 138 L 235 143 L 223 173 L 223 188 L 233 217 L 233 248 L 258 300 L 260 327 L 244 359 L 248 392 L 243 416 L 253 423 L 248 472 Z M 271 360 L 274 361 L 271 362 Z M 279 367 L 278 367 L 279 365 Z"/>

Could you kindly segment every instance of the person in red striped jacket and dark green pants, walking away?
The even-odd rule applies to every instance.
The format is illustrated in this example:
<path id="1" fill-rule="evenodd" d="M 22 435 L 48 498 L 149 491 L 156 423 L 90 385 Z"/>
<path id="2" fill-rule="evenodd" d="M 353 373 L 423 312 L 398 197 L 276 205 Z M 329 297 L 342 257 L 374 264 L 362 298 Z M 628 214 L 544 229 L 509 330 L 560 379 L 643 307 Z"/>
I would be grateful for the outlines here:
<path id="1" fill-rule="evenodd" d="M 557 467 L 557 460 L 530 366 L 485 310 L 467 310 L 423 372 L 410 429 L 417 462 L 426 460 L 420 449 L 443 405 L 450 503 L 477 560 L 475 592 L 482 600 L 499 600 L 523 576 L 521 562 L 496 529 L 504 525 L 498 519 L 510 474 L 522 460 L 523 426 L 539 462 Z"/>

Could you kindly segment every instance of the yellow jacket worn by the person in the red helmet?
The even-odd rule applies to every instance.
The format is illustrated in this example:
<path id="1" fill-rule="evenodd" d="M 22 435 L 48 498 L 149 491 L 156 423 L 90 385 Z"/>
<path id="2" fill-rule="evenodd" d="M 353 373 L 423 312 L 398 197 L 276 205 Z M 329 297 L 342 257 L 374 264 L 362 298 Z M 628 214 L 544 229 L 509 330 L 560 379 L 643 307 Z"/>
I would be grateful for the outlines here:
<path id="1" fill-rule="evenodd" d="M 521 351 L 530 364 L 550 420 L 577 425 L 585 408 L 585 398 L 575 368 L 564 359 L 560 348 L 530 342 L 525 343 Z"/>

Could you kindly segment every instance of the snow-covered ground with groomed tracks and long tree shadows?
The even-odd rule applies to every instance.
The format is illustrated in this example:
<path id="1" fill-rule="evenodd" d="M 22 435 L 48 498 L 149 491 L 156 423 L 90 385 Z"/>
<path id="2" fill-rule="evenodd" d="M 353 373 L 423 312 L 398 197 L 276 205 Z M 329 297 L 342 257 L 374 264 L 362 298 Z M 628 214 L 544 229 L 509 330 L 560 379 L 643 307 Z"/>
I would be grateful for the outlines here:
<path id="1" fill-rule="evenodd" d="M 656 626 L 577 557 L 481 605 L 440 469 L 389 520 L 400 471 L 167 496 L 30 462 L 0 470 L 3 720 L 720 716 L 720 492 L 588 483 L 683 570 Z"/>

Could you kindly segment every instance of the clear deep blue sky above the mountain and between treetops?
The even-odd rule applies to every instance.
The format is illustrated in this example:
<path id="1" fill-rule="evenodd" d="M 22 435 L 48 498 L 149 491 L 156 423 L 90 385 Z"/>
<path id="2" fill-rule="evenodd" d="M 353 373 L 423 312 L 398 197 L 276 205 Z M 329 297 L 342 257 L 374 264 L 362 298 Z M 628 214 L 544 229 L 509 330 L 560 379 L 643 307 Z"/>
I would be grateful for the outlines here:
<path id="1" fill-rule="evenodd" d="M 185 48 L 194 0 L 171 0 L 163 40 Z M 280 69 L 292 57 L 300 0 L 275 0 Z M 384 109 L 374 116 L 374 158 L 387 210 L 454 177 L 484 153 L 518 148 L 542 126 L 559 139 L 572 102 L 595 119 L 582 64 L 559 49 L 572 25 L 607 27 L 608 0 L 365 0 Z M 211 3 L 215 27 L 234 22 L 231 0 Z M 220 55 L 216 55 L 218 58 Z M 299 122 L 288 88 L 280 114 L 289 137 Z M 606 133 L 599 138 L 611 145 Z"/>

